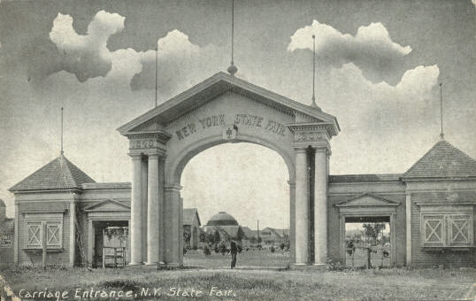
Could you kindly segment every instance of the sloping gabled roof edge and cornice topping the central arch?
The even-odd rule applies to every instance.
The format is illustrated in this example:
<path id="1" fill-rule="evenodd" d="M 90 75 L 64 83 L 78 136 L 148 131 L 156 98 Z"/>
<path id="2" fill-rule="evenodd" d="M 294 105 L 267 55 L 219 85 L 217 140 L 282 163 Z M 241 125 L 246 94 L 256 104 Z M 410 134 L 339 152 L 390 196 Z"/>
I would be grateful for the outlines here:
<path id="1" fill-rule="evenodd" d="M 164 129 L 173 120 L 177 120 L 180 116 L 193 112 L 203 104 L 229 92 L 250 97 L 254 101 L 280 112 L 299 115 L 299 122 L 330 124 L 333 127 L 334 135 L 340 131 L 339 124 L 333 115 L 221 72 L 127 122 L 118 130 L 121 135 L 154 132 L 166 135 Z"/>

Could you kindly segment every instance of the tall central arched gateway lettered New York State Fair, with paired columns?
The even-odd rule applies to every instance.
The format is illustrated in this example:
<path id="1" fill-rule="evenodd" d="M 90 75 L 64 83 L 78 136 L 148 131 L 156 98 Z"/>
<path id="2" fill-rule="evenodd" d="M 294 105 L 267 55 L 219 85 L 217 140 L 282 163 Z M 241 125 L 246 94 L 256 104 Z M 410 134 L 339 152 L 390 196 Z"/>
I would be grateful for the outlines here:
<path id="1" fill-rule="evenodd" d="M 263 145 L 284 159 L 292 260 L 325 265 L 329 141 L 339 130 L 335 117 L 318 107 L 226 73 L 119 127 L 133 165 L 131 265 L 182 265 L 182 170 L 200 151 L 240 142 Z"/>

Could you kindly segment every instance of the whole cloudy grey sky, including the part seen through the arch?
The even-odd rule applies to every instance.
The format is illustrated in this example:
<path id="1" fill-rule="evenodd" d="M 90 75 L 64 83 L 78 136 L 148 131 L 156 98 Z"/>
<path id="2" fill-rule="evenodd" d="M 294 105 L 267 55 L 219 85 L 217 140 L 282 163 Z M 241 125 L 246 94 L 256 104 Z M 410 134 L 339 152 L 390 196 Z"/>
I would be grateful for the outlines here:
<path id="1" fill-rule="evenodd" d="M 439 86 L 449 143 L 476 157 L 476 14 L 470 0 L 235 0 L 237 77 L 311 103 L 339 120 L 331 174 L 403 173 L 439 140 Z M 130 181 L 116 128 L 226 71 L 231 1 L 0 3 L 0 198 L 58 157 L 96 181 Z M 237 163 L 239 162 L 239 163 Z M 207 168 L 203 168 L 207 166 Z M 288 227 L 284 161 L 225 144 L 182 174 L 184 206 L 202 220 L 226 211 L 243 225 Z M 230 176 L 232 174 L 233 176 Z"/>

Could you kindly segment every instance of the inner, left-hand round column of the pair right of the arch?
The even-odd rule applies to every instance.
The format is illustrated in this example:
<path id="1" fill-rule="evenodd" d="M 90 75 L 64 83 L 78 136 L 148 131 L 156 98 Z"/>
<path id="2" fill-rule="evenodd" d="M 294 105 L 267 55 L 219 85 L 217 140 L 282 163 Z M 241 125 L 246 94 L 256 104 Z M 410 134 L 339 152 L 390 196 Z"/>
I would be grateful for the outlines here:
<path id="1" fill-rule="evenodd" d="M 296 149 L 296 265 L 309 262 L 309 185 L 305 148 Z"/>

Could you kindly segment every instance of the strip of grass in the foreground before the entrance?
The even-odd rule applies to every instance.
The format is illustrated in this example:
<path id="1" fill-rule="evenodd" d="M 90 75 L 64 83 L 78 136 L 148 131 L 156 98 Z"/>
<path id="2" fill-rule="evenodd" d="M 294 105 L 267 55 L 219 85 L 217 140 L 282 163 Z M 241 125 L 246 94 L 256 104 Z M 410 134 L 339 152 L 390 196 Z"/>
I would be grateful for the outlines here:
<path id="1" fill-rule="evenodd" d="M 81 296 L 84 291 L 93 288 L 104 289 L 107 294 L 111 291 L 117 293 L 118 290 L 131 290 L 132 296 L 136 294 L 135 298 L 162 300 L 461 299 L 469 297 L 469 289 L 476 279 L 475 270 L 439 269 L 333 272 L 185 268 L 157 271 L 126 267 L 92 271 L 86 268 L 49 268 L 42 271 L 40 268 L 30 267 L 6 269 L 1 274 L 17 296 L 19 289 L 33 292 L 48 288 L 53 291 L 67 290 L 68 299 L 74 299 L 76 289 L 81 289 Z M 233 291 L 229 292 L 228 296 L 219 296 L 214 287 L 222 290 L 222 293 L 224 290 Z M 156 297 L 153 295 L 154 289 L 157 289 Z M 178 289 L 180 296 L 172 293 Z M 201 290 L 203 293 L 199 297 L 189 297 L 192 289 Z M 184 290 L 188 291 L 188 296 L 181 296 Z M 150 295 L 141 295 L 141 292 L 147 291 Z M 26 297 L 25 294 L 23 291 L 23 297 Z"/>

